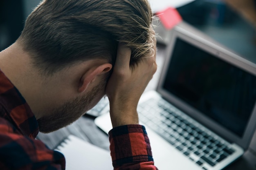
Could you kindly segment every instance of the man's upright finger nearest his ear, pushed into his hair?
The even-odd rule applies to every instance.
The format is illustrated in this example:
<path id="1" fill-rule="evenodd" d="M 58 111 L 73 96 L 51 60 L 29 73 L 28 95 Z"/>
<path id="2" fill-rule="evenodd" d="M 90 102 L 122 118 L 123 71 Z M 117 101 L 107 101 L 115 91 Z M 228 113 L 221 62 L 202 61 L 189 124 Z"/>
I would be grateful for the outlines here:
<path id="1" fill-rule="evenodd" d="M 117 48 L 117 59 L 114 69 L 130 69 L 130 57 L 132 51 L 125 44 L 119 43 Z"/>

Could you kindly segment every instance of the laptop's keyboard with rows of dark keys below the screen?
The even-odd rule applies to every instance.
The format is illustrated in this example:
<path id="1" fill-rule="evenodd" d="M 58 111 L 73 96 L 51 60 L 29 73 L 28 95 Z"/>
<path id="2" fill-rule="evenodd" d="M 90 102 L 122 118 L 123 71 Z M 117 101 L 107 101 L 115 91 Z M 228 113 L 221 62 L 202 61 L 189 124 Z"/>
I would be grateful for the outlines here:
<path id="1" fill-rule="evenodd" d="M 163 100 L 150 99 L 138 106 L 139 119 L 164 137 L 177 150 L 207 170 L 225 160 L 235 150 L 193 119 Z"/>

